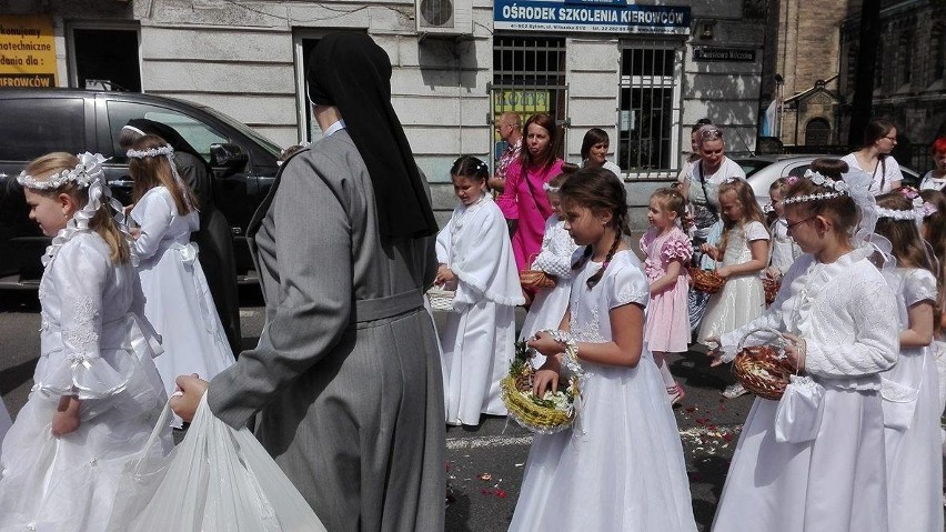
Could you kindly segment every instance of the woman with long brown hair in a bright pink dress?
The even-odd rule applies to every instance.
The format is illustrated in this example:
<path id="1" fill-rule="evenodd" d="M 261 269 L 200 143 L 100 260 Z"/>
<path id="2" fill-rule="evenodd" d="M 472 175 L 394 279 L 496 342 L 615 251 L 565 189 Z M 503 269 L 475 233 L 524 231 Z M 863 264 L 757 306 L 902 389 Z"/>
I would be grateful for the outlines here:
<path id="1" fill-rule="evenodd" d="M 543 184 L 562 173 L 563 161 L 555 157 L 557 130 L 555 120 L 545 113 L 533 114 L 525 121 L 525 149 L 506 170 L 506 185 L 496 204 L 507 220 L 513 221 L 513 253 L 520 270 L 529 267 L 531 255 L 542 248 L 545 220 L 552 205 Z"/>

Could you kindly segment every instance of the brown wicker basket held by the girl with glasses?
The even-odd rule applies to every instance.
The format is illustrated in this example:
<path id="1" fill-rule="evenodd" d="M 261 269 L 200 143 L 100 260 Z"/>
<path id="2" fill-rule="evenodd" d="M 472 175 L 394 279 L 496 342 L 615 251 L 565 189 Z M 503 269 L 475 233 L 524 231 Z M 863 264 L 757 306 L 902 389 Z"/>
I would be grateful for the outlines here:
<path id="1" fill-rule="evenodd" d="M 753 333 L 768 331 L 776 334 L 775 345 L 743 347 L 743 342 Z M 758 329 L 746 333 L 739 341 L 736 359 L 733 361 L 733 373 L 749 392 L 763 398 L 777 401 L 785 393 L 788 377 L 795 370 L 788 363 L 784 353 L 784 340 L 778 331 Z"/>

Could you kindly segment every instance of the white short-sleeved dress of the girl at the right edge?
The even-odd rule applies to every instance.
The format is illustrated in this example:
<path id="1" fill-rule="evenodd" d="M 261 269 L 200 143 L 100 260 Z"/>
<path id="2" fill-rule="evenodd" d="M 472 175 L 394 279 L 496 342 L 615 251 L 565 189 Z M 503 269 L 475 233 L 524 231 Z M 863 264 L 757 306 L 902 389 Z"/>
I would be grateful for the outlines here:
<path id="1" fill-rule="evenodd" d="M 936 278 L 923 269 L 897 269 L 900 328 L 907 309 L 936 304 Z M 887 455 L 890 530 L 943 530 L 943 451 L 935 345 L 902 349 L 880 374 Z"/>

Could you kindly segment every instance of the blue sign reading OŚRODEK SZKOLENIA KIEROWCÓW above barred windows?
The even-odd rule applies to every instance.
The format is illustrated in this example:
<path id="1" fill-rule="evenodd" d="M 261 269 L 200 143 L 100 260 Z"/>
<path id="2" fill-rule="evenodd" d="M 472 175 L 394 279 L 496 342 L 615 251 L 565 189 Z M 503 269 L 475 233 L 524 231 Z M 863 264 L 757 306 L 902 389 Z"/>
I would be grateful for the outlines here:
<path id="1" fill-rule="evenodd" d="M 612 0 L 495 0 L 497 30 L 591 33 L 690 33 L 690 7 Z"/>

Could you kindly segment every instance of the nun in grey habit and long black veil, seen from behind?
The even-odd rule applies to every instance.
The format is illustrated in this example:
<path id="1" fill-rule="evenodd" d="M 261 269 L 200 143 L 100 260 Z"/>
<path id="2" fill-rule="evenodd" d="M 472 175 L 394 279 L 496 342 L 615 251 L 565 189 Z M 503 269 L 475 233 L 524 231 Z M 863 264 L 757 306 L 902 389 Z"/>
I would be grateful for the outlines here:
<path id="1" fill-rule="evenodd" d="M 255 433 L 328 530 L 444 526 L 443 384 L 423 292 L 436 268 L 426 182 L 391 106 L 391 62 L 326 36 L 309 94 L 323 138 L 291 157 L 250 224 L 266 305 L 256 348 L 203 390 Z"/>

